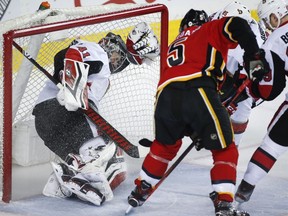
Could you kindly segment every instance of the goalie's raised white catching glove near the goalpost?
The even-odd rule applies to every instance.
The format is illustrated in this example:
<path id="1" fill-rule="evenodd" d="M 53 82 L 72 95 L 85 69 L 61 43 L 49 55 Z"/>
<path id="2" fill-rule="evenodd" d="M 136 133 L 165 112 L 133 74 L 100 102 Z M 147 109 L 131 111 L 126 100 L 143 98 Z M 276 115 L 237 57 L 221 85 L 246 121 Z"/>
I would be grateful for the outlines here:
<path id="1" fill-rule="evenodd" d="M 126 46 L 131 54 L 129 61 L 133 64 L 149 63 L 160 53 L 159 42 L 151 27 L 141 22 L 129 33 Z"/>

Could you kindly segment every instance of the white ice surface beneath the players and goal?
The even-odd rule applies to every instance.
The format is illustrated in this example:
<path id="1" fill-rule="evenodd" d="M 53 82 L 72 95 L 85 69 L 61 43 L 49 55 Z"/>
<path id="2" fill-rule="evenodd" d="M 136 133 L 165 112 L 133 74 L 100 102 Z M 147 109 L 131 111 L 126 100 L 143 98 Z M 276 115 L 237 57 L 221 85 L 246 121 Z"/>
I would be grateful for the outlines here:
<path id="1" fill-rule="evenodd" d="M 191 154 L 197 154 L 192 150 Z M 128 207 L 127 195 L 133 188 L 141 160 L 131 160 L 128 179 L 115 190 L 112 201 L 101 207 L 76 200 L 49 198 L 36 195 L 30 198 L 0 204 L 1 216 L 120 216 L 125 215 Z M 242 173 L 239 173 L 239 177 Z M 251 215 L 288 215 L 287 179 L 268 176 L 255 188 L 251 201 L 245 204 L 245 210 Z M 211 192 L 209 167 L 183 162 L 154 192 L 148 201 L 129 213 L 131 216 L 207 216 L 213 215 L 212 202 L 208 198 Z"/>

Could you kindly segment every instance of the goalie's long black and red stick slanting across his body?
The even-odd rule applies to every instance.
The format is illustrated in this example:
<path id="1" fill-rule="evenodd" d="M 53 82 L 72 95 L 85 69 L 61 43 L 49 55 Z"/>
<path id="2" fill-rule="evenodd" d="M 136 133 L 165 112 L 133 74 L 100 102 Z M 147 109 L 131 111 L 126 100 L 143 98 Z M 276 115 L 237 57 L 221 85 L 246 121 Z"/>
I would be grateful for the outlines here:
<path id="1" fill-rule="evenodd" d="M 41 72 L 43 72 L 58 88 L 62 87 L 62 84 L 54 79 L 54 77 L 41 65 L 36 62 L 32 56 L 27 53 L 22 47 L 19 46 L 15 41 L 13 41 L 13 46 L 21 52 L 25 58 L 27 58 L 35 67 L 37 67 Z M 120 132 L 118 132 L 111 124 L 109 124 L 98 112 L 92 108 L 92 104 L 89 103 L 88 110 L 82 110 L 83 113 L 103 131 L 107 136 L 109 136 L 117 146 L 123 149 L 130 157 L 140 158 L 139 149 L 137 146 L 130 143 Z"/>

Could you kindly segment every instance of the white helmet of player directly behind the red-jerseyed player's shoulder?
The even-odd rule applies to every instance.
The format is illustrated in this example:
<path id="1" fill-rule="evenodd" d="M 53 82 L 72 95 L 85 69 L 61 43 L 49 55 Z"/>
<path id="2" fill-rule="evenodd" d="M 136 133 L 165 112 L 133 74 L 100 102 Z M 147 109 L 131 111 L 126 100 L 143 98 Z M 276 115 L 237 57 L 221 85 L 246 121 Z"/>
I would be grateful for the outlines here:
<path id="1" fill-rule="evenodd" d="M 226 5 L 219 14 L 219 19 L 227 16 L 241 17 L 250 24 L 253 21 L 249 8 L 238 1 L 232 1 Z"/>

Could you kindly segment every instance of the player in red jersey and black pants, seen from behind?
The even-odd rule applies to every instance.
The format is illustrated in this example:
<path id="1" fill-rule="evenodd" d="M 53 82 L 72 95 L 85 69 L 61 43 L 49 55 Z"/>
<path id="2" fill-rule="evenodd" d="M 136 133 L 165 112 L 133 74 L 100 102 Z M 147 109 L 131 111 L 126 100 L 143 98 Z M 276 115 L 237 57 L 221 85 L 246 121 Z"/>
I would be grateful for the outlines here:
<path id="1" fill-rule="evenodd" d="M 170 44 L 166 66 L 161 71 L 155 108 L 155 140 L 145 157 L 136 187 L 128 203 L 141 206 L 176 156 L 182 138 L 196 133 L 213 157 L 210 194 L 215 214 L 249 215 L 235 210 L 238 150 L 227 110 L 218 86 L 229 49 L 238 44 L 245 50 L 244 62 L 251 70 L 267 70 L 265 59 L 246 20 L 224 17 L 207 22 L 205 11 L 191 9 L 183 18 L 180 34 Z"/>

